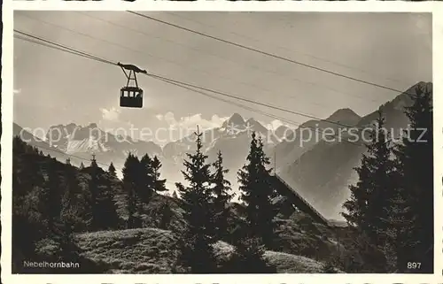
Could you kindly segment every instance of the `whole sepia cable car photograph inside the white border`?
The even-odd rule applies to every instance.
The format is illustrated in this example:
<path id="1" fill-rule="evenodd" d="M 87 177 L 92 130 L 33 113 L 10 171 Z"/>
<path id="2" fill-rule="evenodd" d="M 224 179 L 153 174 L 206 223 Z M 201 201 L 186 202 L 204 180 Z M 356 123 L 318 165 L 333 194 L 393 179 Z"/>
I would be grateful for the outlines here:
<path id="1" fill-rule="evenodd" d="M 15 11 L 12 273 L 433 274 L 432 94 L 431 12 Z"/>

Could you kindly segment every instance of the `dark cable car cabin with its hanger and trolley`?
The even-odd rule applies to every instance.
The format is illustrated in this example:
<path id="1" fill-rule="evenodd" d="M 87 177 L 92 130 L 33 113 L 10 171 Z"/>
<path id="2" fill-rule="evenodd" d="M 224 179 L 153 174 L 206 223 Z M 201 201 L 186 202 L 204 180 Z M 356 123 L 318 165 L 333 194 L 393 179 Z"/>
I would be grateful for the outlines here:
<path id="1" fill-rule="evenodd" d="M 138 88 L 136 73 L 146 74 L 146 70 L 138 68 L 136 65 L 117 64 L 125 73 L 128 79 L 126 87 L 120 88 L 120 107 L 141 108 L 143 107 L 143 89 Z M 135 84 L 131 82 L 134 81 Z M 134 86 L 135 85 L 135 86 Z"/>

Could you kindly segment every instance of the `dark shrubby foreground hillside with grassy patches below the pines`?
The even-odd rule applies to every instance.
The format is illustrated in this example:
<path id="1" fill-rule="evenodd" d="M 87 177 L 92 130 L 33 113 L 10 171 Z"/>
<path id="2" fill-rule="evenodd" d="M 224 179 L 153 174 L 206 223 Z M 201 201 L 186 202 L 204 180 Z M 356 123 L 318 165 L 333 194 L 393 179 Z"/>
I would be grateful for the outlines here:
<path id="1" fill-rule="evenodd" d="M 181 199 L 154 192 L 140 211 L 141 223 L 138 228 L 127 229 L 128 196 L 123 190 L 123 183 L 111 173 L 93 165 L 93 161 L 91 165 L 79 169 L 41 155 L 38 150 L 19 139 L 14 139 L 13 157 L 13 177 L 17 182 L 12 189 L 14 230 L 21 232 L 20 235 L 32 232 L 35 238 L 32 241 L 35 248 L 33 244 L 33 249 L 27 251 L 23 251 L 23 248 L 31 241 L 27 238 L 14 241 L 14 271 L 29 271 L 20 267 L 23 253 L 27 258 L 35 257 L 44 261 L 53 261 L 59 257 L 57 237 L 53 237 L 52 231 L 46 232 L 45 223 L 41 223 L 38 217 L 34 219 L 34 213 L 29 211 L 29 208 L 42 208 L 46 202 L 42 199 L 46 195 L 42 193 L 47 190 L 52 190 L 51 195 L 65 196 L 61 188 L 71 188 L 76 190 L 73 195 L 76 201 L 73 200 L 72 203 L 72 210 L 76 213 L 69 230 L 75 236 L 76 245 L 82 249 L 82 264 L 90 265 L 81 267 L 79 272 L 173 272 L 176 251 L 175 237 L 171 232 L 180 235 L 185 227 Z M 34 183 L 29 183 L 28 180 Z M 66 180 L 71 180 L 72 183 L 66 184 Z M 105 219 L 100 221 L 104 225 L 98 228 L 89 221 L 91 190 L 96 190 L 91 187 L 107 192 L 105 196 L 99 196 L 100 206 L 108 207 L 100 207 L 105 209 L 106 215 Z M 113 197 L 107 199 L 106 196 Z M 113 218 L 113 215 L 110 215 L 110 203 L 116 206 L 114 212 L 117 213 L 117 219 L 108 226 L 107 220 Z M 276 247 L 275 251 L 266 252 L 265 258 L 269 264 L 276 265 L 278 272 L 319 272 L 323 262 L 330 257 L 341 257 L 346 252 L 344 243 L 337 242 L 333 230 L 316 224 L 310 217 L 294 209 L 291 203 L 285 202 L 284 196 L 276 197 L 273 203 L 279 212 L 275 219 Z M 244 205 L 229 203 L 228 208 L 226 234 L 215 246 L 220 265 L 223 264 L 223 260 L 228 260 L 232 252 L 232 246 L 228 243 L 234 243 L 237 238 L 236 230 L 244 224 L 245 219 Z M 166 215 L 168 218 L 165 218 Z M 23 218 L 26 221 L 20 222 Z M 165 219 L 167 221 L 164 221 Z"/>

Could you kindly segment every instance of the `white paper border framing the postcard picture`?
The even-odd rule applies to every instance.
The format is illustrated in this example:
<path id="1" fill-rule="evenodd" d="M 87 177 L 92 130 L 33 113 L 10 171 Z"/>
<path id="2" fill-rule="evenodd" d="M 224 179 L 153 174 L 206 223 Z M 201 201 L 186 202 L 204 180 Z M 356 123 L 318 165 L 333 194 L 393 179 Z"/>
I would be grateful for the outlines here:
<path id="1" fill-rule="evenodd" d="M 435 267 L 434 274 L 265 274 L 265 275 L 17 275 L 11 274 L 12 236 L 12 9 L 15 10 L 83 10 L 83 11 L 294 11 L 294 12 L 433 12 L 433 85 L 434 85 L 434 173 L 435 173 Z M 17 1 L 3 4 L 4 41 L 2 52 L 2 283 L 443 283 L 443 3 L 424 2 L 229 2 L 204 1 L 168 2 L 138 0 L 124 3 L 120 0 L 101 2 Z M 439 50 L 437 52 L 436 50 Z"/>

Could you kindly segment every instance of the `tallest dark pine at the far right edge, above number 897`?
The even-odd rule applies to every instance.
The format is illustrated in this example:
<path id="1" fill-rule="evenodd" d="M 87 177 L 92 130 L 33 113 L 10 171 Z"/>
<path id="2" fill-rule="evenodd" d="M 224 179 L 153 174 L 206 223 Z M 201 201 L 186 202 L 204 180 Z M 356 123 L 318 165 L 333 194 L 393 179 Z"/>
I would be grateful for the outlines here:
<path id="1" fill-rule="evenodd" d="M 420 272 L 433 271 L 432 112 L 432 90 L 417 87 L 413 104 L 405 111 L 409 128 L 394 150 L 399 175 L 394 217 L 400 230 L 399 271 L 408 270 L 408 262 L 420 262 Z"/>

